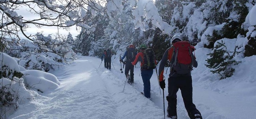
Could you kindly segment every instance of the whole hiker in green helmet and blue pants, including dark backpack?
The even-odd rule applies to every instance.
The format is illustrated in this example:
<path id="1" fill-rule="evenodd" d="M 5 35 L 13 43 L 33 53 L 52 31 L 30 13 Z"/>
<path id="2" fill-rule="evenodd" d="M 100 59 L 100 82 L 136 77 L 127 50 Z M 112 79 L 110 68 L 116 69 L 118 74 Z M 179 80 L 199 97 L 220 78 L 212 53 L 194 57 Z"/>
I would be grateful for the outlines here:
<path id="1" fill-rule="evenodd" d="M 148 53 L 147 51 L 150 51 Z M 132 65 L 136 65 L 140 61 L 141 66 L 141 77 L 144 85 L 144 96 L 150 99 L 150 79 L 153 74 L 153 69 L 156 66 L 155 54 L 154 51 L 145 45 L 140 45 L 140 52 L 136 55 L 135 60 L 131 63 Z"/>

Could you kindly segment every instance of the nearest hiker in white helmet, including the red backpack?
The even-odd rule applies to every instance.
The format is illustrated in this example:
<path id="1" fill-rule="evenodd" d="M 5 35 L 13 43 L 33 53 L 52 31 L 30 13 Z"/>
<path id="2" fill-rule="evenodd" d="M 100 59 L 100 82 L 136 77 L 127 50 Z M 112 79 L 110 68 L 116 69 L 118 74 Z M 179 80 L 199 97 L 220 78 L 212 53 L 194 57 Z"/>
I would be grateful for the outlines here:
<path id="1" fill-rule="evenodd" d="M 168 101 L 167 113 L 171 119 L 177 119 L 177 91 L 181 90 L 181 95 L 190 119 L 202 119 L 201 113 L 197 110 L 192 100 L 192 78 L 191 70 L 197 67 L 197 61 L 193 55 L 195 48 L 190 46 L 188 41 L 182 41 L 181 36 L 174 35 L 171 39 L 173 47 L 168 48 L 163 54 L 159 65 L 159 85 L 165 88 L 163 70 L 169 60 L 170 74 L 168 78 Z"/>

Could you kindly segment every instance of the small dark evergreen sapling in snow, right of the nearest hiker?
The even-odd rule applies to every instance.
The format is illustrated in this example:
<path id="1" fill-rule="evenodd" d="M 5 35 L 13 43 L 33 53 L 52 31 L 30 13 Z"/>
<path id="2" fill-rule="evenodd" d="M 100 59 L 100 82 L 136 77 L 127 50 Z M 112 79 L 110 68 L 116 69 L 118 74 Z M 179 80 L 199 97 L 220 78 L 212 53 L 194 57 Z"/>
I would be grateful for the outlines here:
<path id="1" fill-rule="evenodd" d="M 241 61 L 237 62 L 234 60 L 234 56 L 238 54 L 239 52 L 236 51 L 237 47 L 234 49 L 233 54 L 229 54 L 227 52 L 227 47 L 225 46 L 225 43 L 219 43 L 217 42 L 217 45 L 214 47 L 212 53 L 209 53 L 207 55 L 210 55 L 211 58 L 208 58 L 206 61 L 208 64 L 205 64 L 208 68 L 214 69 L 211 70 L 212 73 L 218 73 L 220 79 L 226 79 L 228 77 L 231 77 L 235 71 L 234 68 L 232 68 L 232 65 L 238 65 L 241 63 Z"/>

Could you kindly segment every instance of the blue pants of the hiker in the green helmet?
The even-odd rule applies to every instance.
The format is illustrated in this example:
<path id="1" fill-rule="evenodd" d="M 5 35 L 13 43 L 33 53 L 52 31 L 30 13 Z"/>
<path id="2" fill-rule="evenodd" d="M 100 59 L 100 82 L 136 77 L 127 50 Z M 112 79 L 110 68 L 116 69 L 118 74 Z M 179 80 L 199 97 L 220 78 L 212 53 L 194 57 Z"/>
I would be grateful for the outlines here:
<path id="1" fill-rule="evenodd" d="M 144 96 L 150 98 L 150 78 L 152 77 L 153 69 L 141 70 L 141 77 L 144 85 Z"/>

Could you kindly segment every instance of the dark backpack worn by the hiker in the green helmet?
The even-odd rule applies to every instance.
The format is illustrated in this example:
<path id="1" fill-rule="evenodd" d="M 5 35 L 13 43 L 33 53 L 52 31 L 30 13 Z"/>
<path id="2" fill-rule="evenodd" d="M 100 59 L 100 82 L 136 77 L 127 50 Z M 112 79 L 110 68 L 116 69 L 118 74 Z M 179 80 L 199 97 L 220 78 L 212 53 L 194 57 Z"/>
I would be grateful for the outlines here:
<path id="1" fill-rule="evenodd" d="M 146 49 L 144 52 L 144 65 L 143 69 L 155 69 L 156 64 L 155 64 L 155 52 L 153 51 L 152 48 Z"/>

